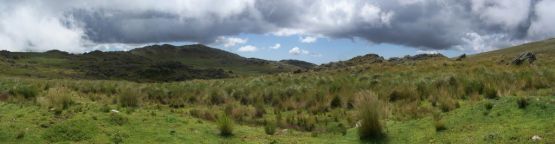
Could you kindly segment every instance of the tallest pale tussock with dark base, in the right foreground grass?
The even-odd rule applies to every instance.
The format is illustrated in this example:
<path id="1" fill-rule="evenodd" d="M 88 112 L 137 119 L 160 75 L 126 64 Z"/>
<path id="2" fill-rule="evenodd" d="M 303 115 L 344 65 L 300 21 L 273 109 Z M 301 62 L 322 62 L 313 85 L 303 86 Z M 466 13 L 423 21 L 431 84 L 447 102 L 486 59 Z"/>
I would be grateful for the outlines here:
<path id="1" fill-rule="evenodd" d="M 356 94 L 359 98 L 358 109 L 361 123 L 358 128 L 360 139 L 377 140 L 385 136 L 383 125 L 380 122 L 382 107 L 378 96 L 370 91 L 362 91 Z"/>

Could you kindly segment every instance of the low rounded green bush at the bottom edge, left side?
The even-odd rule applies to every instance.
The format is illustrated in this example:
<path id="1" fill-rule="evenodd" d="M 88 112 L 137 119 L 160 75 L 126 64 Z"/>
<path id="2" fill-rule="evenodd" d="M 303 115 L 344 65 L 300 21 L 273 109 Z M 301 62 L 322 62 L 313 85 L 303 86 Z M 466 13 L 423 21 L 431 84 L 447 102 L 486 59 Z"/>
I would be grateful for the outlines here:
<path id="1" fill-rule="evenodd" d="M 50 142 L 83 141 L 95 134 L 95 125 L 85 120 L 66 121 L 48 128 L 42 137 Z"/>

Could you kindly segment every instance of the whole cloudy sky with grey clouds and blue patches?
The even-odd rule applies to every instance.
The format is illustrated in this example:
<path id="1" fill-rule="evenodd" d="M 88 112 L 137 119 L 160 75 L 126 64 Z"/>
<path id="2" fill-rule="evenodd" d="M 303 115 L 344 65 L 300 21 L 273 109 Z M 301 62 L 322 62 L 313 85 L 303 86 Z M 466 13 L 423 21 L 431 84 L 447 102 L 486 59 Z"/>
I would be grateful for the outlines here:
<path id="1" fill-rule="evenodd" d="M 494 50 L 555 35 L 555 0 L 0 0 L 0 49 L 201 43 L 315 63 Z"/>

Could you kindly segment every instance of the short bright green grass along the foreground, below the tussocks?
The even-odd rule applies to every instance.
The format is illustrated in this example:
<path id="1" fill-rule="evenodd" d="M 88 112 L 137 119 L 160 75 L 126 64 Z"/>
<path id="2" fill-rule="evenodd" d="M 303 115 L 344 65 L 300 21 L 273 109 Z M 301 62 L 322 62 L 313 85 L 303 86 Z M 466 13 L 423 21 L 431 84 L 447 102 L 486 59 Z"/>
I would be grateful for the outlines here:
<path id="1" fill-rule="evenodd" d="M 531 143 L 534 135 L 543 137 L 545 143 L 555 142 L 555 97 L 540 97 L 525 109 L 519 109 L 515 97 L 491 100 L 492 110 L 484 102 L 467 104 L 455 111 L 444 113 L 448 127 L 436 132 L 430 117 L 409 121 L 389 121 L 389 143 Z M 146 107 L 122 109 L 129 122 L 121 126 L 110 122 L 110 113 L 101 112 L 100 106 L 84 103 L 68 111 L 71 117 L 64 121 L 82 120 L 94 125 L 91 139 L 85 143 L 110 143 L 115 134 L 123 136 L 125 143 L 359 143 L 356 129 L 347 135 L 320 134 L 288 130 L 270 136 L 261 127 L 237 126 L 234 137 L 218 135 L 216 125 L 188 116 L 187 109 Z M 54 125 L 63 124 L 45 109 L 37 106 L 20 106 L 0 103 L 0 141 L 5 143 L 46 143 L 43 135 Z M 94 118 L 93 118 L 94 117 Z M 51 124 L 53 123 L 53 124 Z M 46 126 L 49 128 L 45 128 Z M 44 126 L 44 127 L 43 127 Z M 174 132 L 172 132 L 174 131 Z M 23 133 L 21 139 L 17 135 Z"/>

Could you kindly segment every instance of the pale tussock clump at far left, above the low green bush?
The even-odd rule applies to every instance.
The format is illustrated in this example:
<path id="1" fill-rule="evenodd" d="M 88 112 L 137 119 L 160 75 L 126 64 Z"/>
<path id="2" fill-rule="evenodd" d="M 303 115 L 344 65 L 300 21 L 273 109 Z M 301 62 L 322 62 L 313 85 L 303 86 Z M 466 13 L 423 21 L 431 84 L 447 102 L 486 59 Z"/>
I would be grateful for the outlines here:
<path id="1" fill-rule="evenodd" d="M 75 96 L 75 92 L 68 88 L 56 87 L 48 89 L 45 96 L 39 98 L 39 102 L 41 103 L 41 105 L 48 108 L 65 110 L 75 103 L 73 101 L 73 97 Z"/>

